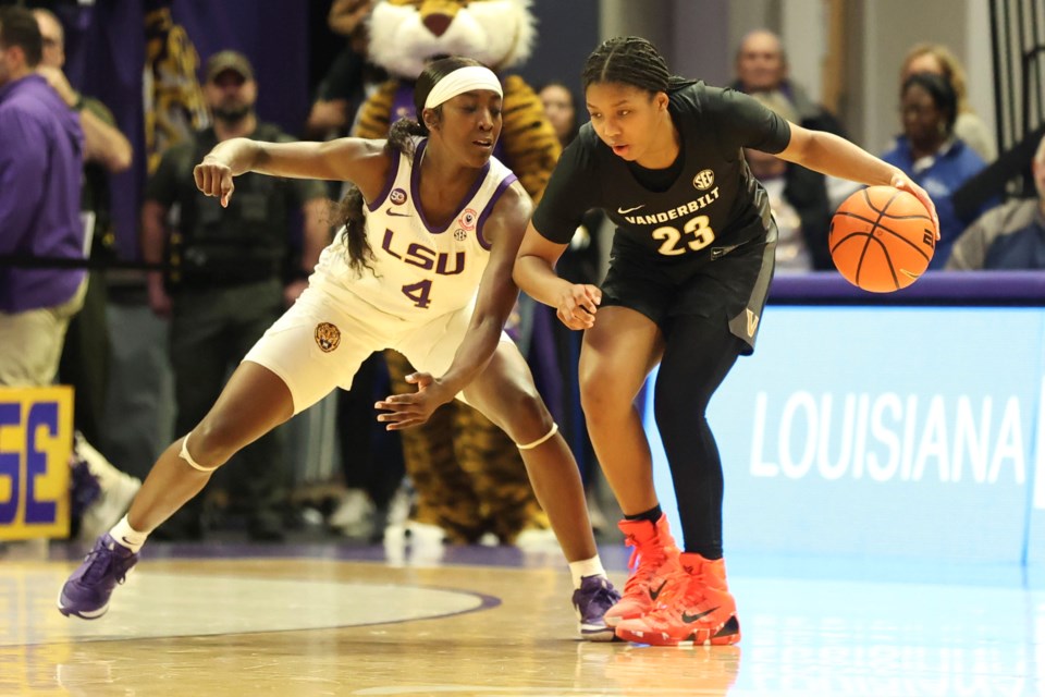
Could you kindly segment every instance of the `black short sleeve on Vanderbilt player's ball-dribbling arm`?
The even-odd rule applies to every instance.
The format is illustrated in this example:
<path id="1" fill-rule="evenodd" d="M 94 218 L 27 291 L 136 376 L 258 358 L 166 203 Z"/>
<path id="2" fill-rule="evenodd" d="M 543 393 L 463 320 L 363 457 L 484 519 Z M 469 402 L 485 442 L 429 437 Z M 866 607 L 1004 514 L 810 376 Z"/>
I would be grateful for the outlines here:
<path id="1" fill-rule="evenodd" d="M 733 157 L 739 148 L 777 155 L 791 142 L 787 120 L 757 99 L 728 88 L 716 91 L 709 103 L 724 155 Z"/>

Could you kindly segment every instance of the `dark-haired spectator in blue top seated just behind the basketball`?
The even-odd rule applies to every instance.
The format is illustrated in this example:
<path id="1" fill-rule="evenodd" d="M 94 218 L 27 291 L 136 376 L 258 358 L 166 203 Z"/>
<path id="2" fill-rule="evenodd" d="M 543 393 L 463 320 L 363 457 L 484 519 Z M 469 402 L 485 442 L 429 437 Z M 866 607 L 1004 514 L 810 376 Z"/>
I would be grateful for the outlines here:
<path id="1" fill-rule="evenodd" d="M 903 83 L 900 100 L 903 133 L 897 136 L 896 145 L 882 159 L 903 170 L 936 204 L 939 240 L 929 268 L 942 269 L 950 256 L 950 246 L 968 223 L 958 218 L 951 196 L 984 168 L 984 162 L 972 148 L 955 137 L 958 97 L 942 76 L 931 73 L 911 75 Z M 980 212 L 991 205 L 993 203 L 984 205 Z"/>

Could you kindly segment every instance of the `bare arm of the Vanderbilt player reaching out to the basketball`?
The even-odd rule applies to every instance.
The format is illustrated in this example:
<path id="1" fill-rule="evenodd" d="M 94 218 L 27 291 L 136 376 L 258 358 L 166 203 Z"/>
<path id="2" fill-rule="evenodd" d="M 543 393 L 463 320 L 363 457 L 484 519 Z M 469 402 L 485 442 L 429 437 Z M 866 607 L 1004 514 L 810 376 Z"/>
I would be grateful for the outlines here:
<path id="1" fill-rule="evenodd" d="M 791 140 L 778 157 L 822 174 L 868 186 L 888 185 L 914 194 L 932 216 L 938 237 L 939 218 L 933 199 L 901 170 L 833 133 L 810 131 L 794 123 L 790 126 Z"/>

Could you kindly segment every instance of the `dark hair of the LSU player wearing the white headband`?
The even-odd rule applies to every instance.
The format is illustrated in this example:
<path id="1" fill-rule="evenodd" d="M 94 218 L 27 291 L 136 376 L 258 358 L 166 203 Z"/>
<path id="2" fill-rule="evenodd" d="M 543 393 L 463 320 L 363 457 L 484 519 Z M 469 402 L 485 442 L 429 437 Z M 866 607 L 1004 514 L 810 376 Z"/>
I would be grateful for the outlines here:
<path id="1" fill-rule="evenodd" d="M 416 119 L 399 119 L 389 129 L 389 139 L 384 144 L 388 154 L 399 151 L 405 157 L 414 157 L 414 136 L 427 137 L 428 126 L 425 124 L 425 100 L 435 84 L 455 70 L 468 65 L 482 65 L 470 58 L 450 57 L 432 61 L 425 68 L 414 84 L 414 110 Z M 443 118 L 442 105 L 432 109 L 435 123 Z M 345 197 L 341 201 L 340 215 L 345 221 L 342 231 L 342 241 L 348 248 L 348 267 L 361 276 L 364 269 L 373 269 L 373 249 L 367 241 L 366 218 L 362 213 L 362 192 L 353 183 L 348 183 Z"/>

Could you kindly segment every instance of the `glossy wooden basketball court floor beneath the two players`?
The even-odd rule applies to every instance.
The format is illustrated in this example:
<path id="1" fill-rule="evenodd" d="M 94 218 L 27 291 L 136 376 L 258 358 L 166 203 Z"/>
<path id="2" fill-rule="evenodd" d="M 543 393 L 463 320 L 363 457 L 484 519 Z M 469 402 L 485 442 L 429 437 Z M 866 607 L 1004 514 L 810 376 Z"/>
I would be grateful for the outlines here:
<path id="1" fill-rule="evenodd" d="M 54 607 L 83 551 L 0 558 L 0 695 L 1045 694 L 1011 568 L 730 560 L 740 645 L 665 649 L 578 640 L 554 551 L 150 542 L 94 622 Z"/>

